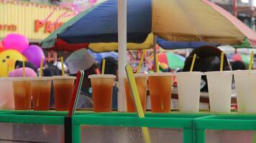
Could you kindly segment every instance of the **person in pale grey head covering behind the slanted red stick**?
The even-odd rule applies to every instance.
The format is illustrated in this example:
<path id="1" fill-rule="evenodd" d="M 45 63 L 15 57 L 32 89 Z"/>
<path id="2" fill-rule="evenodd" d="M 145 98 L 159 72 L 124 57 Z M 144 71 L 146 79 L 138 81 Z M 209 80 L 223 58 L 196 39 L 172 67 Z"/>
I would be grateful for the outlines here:
<path id="1" fill-rule="evenodd" d="M 76 77 L 79 70 L 83 70 L 85 74 L 83 77 L 81 92 L 78 97 L 77 108 L 92 108 L 93 102 L 90 90 L 91 80 L 88 79 L 88 76 L 91 74 L 97 74 L 97 66 L 93 57 L 86 49 L 79 49 L 70 54 L 70 56 L 65 60 L 65 63 L 68 66 L 70 76 Z"/>

